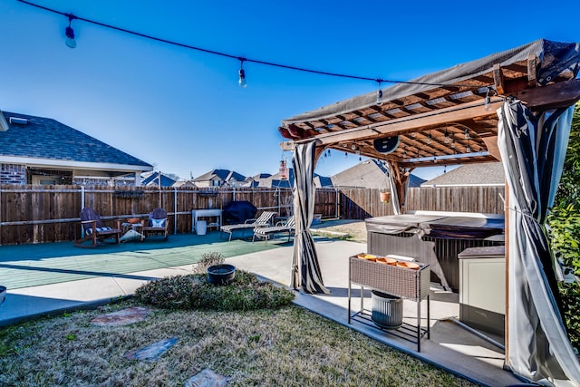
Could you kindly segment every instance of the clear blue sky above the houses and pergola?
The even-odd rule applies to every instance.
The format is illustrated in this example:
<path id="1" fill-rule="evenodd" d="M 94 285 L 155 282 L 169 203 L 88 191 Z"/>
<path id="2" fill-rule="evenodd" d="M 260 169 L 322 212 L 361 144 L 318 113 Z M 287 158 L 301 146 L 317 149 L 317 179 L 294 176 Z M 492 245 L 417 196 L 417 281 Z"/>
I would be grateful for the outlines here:
<path id="1" fill-rule="evenodd" d="M 222 53 L 401 81 L 538 38 L 580 41 L 580 24 L 570 17 L 577 5 L 543 14 L 546 3 L 535 1 L 33 2 Z M 235 59 L 79 20 L 70 49 L 67 25 L 62 15 L 0 0 L 0 110 L 61 121 L 184 179 L 215 168 L 275 173 L 283 157 L 280 121 L 376 90 L 374 82 L 256 63 L 245 63 L 242 89 Z M 356 162 L 333 152 L 316 172 L 330 176 Z"/>

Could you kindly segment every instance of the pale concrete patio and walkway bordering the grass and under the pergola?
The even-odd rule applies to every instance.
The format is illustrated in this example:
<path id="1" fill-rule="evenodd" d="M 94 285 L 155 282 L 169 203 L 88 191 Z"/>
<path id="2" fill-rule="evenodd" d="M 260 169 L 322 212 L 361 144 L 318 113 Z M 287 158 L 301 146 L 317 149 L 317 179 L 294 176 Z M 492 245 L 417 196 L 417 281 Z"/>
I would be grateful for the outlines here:
<path id="1" fill-rule="evenodd" d="M 158 251 L 163 250 L 162 244 L 160 242 Z M 268 243 L 268 246 L 270 245 Z M 165 246 L 169 247 L 169 245 Z M 383 332 L 372 324 L 362 324 L 358 321 L 348 324 L 348 259 L 349 256 L 366 251 L 366 244 L 318 237 L 316 248 L 324 285 L 332 291 L 332 294 L 304 295 L 296 292 L 295 304 L 322 314 L 338 324 L 347 325 L 405 353 L 411 353 L 422 360 L 434 363 L 449 372 L 457 373 L 472 382 L 490 386 L 522 383 L 513 373 L 503 370 L 504 353 L 497 345 L 449 321 L 449 317 L 459 317 L 458 295 L 440 290 L 436 285 L 432 285 L 430 289 L 430 339 L 421 340 L 420 353 L 417 352 L 416 343 L 410 343 Z M 231 256 L 227 258 L 227 262 L 280 285 L 289 285 L 292 251 L 291 245 L 284 244 L 267 250 Z M 82 249 L 79 249 L 79 254 L 82 253 Z M 14 322 L 37 315 L 60 313 L 67 309 L 107 303 L 112 298 L 131 295 L 146 281 L 190 272 L 191 265 L 188 264 L 118 275 L 96 276 L 51 285 L 8 289 L 5 302 L 0 305 L 0 326 L 14 324 Z M 358 286 L 353 285 L 353 310 L 358 310 L 360 305 L 359 289 Z M 371 307 L 368 290 L 364 294 L 364 305 L 369 309 Z M 417 304 L 405 300 L 403 305 L 405 322 L 416 324 Z M 421 303 L 421 316 L 423 317 L 422 324 L 427 324 L 425 301 Z M 503 338 L 489 337 L 503 343 Z"/>

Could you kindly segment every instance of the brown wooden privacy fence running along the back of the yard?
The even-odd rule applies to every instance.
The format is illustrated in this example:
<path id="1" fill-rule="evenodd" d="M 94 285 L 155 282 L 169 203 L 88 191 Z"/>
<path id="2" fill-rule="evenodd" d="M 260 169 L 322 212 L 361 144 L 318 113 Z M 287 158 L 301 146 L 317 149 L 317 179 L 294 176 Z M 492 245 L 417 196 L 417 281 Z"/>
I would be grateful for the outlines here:
<path id="1" fill-rule="evenodd" d="M 503 188 L 409 189 L 407 209 L 503 213 Z M 364 219 L 391 215 L 378 189 L 316 189 L 314 213 L 323 218 Z M 292 211 L 290 189 L 177 189 L 79 186 L 0 186 L 0 246 L 74 240 L 81 235 L 79 212 L 92 207 L 105 224 L 113 219 L 145 218 L 165 208 L 172 233 L 191 231 L 191 211 L 224 208 L 247 200 L 280 216 Z"/>

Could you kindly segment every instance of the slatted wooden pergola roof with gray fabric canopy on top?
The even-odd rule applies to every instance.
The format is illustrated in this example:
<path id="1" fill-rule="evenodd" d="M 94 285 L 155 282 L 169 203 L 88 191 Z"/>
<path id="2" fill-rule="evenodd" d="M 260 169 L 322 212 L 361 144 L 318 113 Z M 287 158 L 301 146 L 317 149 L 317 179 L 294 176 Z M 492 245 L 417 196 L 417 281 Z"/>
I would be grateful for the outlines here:
<path id="1" fill-rule="evenodd" d="M 567 107 L 580 98 L 580 44 L 530 44 L 400 82 L 282 121 L 293 142 L 358 153 L 413 169 L 497 161 L 497 110 L 507 97 L 528 108 Z M 446 135 L 447 133 L 447 135 Z M 469 136 L 466 136 L 468 134 Z M 375 140 L 396 140 L 386 152 Z M 393 142 L 394 143 L 394 142 Z M 379 144 L 380 145 L 380 144 Z M 283 143 L 283 150 L 293 149 Z M 435 159 L 437 158 L 437 159 Z"/>

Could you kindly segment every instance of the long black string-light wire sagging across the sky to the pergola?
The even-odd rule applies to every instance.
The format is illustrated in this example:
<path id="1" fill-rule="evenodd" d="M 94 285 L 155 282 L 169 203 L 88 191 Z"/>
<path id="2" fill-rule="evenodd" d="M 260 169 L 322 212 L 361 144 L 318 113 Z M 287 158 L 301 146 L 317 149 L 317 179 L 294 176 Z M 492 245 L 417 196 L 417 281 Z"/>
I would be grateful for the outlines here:
<path id="1" fill-rule="evenodd" d="M 372 82 L 377 82 L 379 84 L 379 87 L 381 86 L 381 83 L 405 83 L 405 84 L 416 84 L 416 85 L 421 85 L 421 86 L 439 86 L 439 87 L 453 86 L 453 87 L 464 87 L 464 88 L 469 88 L 469 89 L 479 89 L 481 87 L 486 87 L 486 86 L 473 85 L 473 84 L 447 84 L 447 83 L 430 83 L 430 82 L 393 81 L 393 80 L 388 80 L 388 79 L 371 78 L 371 77 L 352 75 L 352 74 L 323 72 L 323 71 L 319 71 L 319 70 L 306 69 L 304 67 L 290 66 L 287 64 L 260 61 L 257 59 L 245 58 L 243 56 L 232 55 L 231 53 L 221 53 L 221 52 L 214 51 L 214 50 L 208 50 L 207 48 L 197 47 L 197 46 L 189 45 L 189 44 L 182 44 L 179 42 L 170 41 L 168 39 L 152 36 L 149 34 L 141 34 L 141 33 L 135 32 L 135 31 L 127 30 L 125 28 L 117 27 L 115 25 L 104 24 L 101 22 L 97 22 L 95 20 L 86 19 L 86 18 L 81 17 L 81 16 L 67 14 L 67 13 L 64 13 L 62 11 L 57 11 L 55 9 L 45 7 L 43 5 L 37 5 L 37 4 L 31 3 L 31 2 L 26 1 L 26 0 L 17 0 L 17 1 L 19 1 L 20 3 L 24 3 L 26 5 L 32 5 L 36 8 L 43 9 L 44 11 L 48 11 L 48 12 L 52 12 L 54 14 L 66 16 L 69 19 L 69 21 L 82 20 L 83 22 L 86 22 L 86 23 L 100 25 L 102 27 L 110 28 L 110 29 L 116 30 L 116 31 L 120 31 L 120 32 L 125 33 L 125 34 L 132 34 L 132 35 L 140 36 L 142 38 L 154 40 L 154 41 L 165 43 L 165 44 L 172 44 L 172 45 L 175 45 L 178 47 L 188 48 L 190 50 L 195 50 L 195 51 L 199 51 L 202 53 L 212 53 L 214 55 L 219 55 L 219 56 L 224 56 L 224 57 L 231 58 L 231 59 L 236 59 L 236 60 L 240 61 L 240 63 L 250 62 L 250 63 L 264 64 L 266 66 L 279 67 L 279 68 L 283 68 L 283 69 L 287 69 L 287 70 L 295 70 L 295 71 L 303 72 L 303 73 L 315 73 L 315 74 L 320 74 L 320 75 L 328 75 L 328 76 L 340 77 L 340 78 L 349 78 L 349 79 L 355 79 L 355 80 L 361 80 L 361 81 L 372 81 Z"/>

